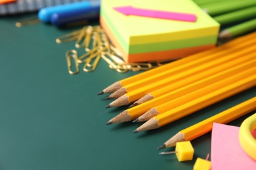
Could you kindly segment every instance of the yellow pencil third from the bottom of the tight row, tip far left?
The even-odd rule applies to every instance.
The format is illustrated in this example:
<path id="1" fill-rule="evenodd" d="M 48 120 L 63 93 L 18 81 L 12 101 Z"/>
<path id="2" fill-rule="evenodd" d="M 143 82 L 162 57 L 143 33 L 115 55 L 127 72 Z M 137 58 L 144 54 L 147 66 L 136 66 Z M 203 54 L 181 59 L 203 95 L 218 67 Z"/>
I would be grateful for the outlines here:
<path id="1" fill-rule="evenodd" d="M 256 59 L 251 59 L 251 58 L 255 58 L 254 54 L 249 55 L 249 57 L 245 56 L 244 58 L 239 58 L 234 61 L 230 61 L 229 63 L 224 63 L 223 65 L 219 65 L 219 67 L 213 69 L 216 74 L 214 74 L 214 72 L 210 70 L 209 72 L 208 71 L 203 72 L 201 73 L 201 75 L 205 75 L 205 76 L 209 75 L 209 76 L 197 82 L 187 84 L 186 86 L 179 88 L 177 90 L 169 91 L 169 93 L 166 93 L 165 95 L 161 95 L 156 99 L 152 99 L 136 107 L 132 107 L 130 109 L 124 110 L 123 112 L 118 114 L 116 117 L 112 118 L 107 124 L 117 124 L 121 122 L 129 122 L 131 120 L 135 120 L 135 118 L 138 118 L 142 114 L 144 115 L 144 112 L 148 111 L 149 109 L 151 110 L 154 107 L 157 107 L 163 103 L 167 103 L 168 101 L 181 97 L 182 95 L 186 95 L 187 93 L 192 93 L 195 90 L 204 88 L 205 86 L 209 86 L 210 84 L 218 82 L 225 77 L 236 75 L 240 73 L 240 71 L 246 70 L 247 68 L 255 65 Z M 140 119 L 137 119 L 135 122 L 137 121 L 140 122 L 142 121 L 142 119 L 145 119 L 144 116 L 142 116 L 142 118 Z"/>

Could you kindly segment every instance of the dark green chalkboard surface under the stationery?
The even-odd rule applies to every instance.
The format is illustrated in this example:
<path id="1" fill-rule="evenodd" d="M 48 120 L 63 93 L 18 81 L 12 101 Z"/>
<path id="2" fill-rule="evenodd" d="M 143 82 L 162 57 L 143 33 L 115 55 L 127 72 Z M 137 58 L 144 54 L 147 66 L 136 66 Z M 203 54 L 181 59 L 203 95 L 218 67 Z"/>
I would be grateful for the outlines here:
<path id="1" fill-rule="evenodd" d="M 27 17 L 0 18 L 0 169 L 192 169 L 196 158 L 211 152 L 211 133 L 192 141 L 192 161 L 158 155 L 158 146 L 255 96 L 251 88 L 152 131 L 132 133 L 140 124 L 131 122 L 106 126 L 127 107 L 105 109 L 110 100 L 96 93 L 138 72 L 117 73 L 100 60 L 96 71 L 70 75 L 65 53 L 75 49 L 74 42 L 56 44 L 55 39 L 81 27 L 14 26 Z M 230 124 L 240 126 L 247 116 Z"/>

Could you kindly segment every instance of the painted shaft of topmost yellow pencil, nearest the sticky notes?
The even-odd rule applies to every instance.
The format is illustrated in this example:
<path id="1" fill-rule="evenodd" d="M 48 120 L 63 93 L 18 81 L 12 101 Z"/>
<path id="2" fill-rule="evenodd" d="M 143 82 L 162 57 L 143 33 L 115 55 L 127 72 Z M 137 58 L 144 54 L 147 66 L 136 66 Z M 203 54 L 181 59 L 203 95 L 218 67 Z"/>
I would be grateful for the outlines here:
<path id="1" fill-rule="evenodd" d="M 128 78 L 124 78 L 123 80 L 120 80 L 119 82 L 121 83 L 121 86 L 125 86 L 127 84 L 132 83 L 132 82 L 141 80 L 142 78 L 161 73 L 162 71 L 165 71 L 169 68 L 177 67 L 177 66 L 182 65 L 184 63 L 194 61 L 195 59 L 198 59 L 198 58 L 203 58 L 204 56 L 210 55 L 213 52 L 219 52 L 219 51 L 225 50 L 228 46 L 236 46 L 236 45 L 241 44 L 242 42 L 245 42 L 248 39 L 251 39 L 252 37 L 255 37 L 255 36 L 256 36 L 256 33 L 251 33 L 249 35 L 239 37 L 238 39 L 234 39 L 233 41 L 227 42 L 226 44 L 223 44 L 222 46 L 218 46 L 217 48 L 212 48 L 210 50 L 205 50 L 203 52 L 199 52 L 197 54 L 190 55 L 186 58 L 182 58 L 182 59 L 179 59 L 177 61 L 173 61 L 171 63 L 161 65 L 160 67 L 156 67 L 155 69 L 145 71 L 145 72 L 140 73 L 138 75 L 134 75 L 134 76 L 130 76 Z"/>

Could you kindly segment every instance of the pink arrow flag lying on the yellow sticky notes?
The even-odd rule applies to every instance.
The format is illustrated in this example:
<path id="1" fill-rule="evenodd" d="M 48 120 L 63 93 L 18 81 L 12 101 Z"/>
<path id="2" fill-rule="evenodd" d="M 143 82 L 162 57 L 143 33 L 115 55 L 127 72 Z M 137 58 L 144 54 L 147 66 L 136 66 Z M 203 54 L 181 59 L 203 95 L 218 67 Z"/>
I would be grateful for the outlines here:
<path id="1" fill-rule="evenodd" d="M 161 10 L 139 9 L 132 6 L 114 7 L 114 10 L 125 15 L 145 16 L 150 18 L 161 18 L 166 20 L 179 20 L 185 22 L 196 22 L 195 14 L 186 14 L 182 12 L 169 12 Z"/>

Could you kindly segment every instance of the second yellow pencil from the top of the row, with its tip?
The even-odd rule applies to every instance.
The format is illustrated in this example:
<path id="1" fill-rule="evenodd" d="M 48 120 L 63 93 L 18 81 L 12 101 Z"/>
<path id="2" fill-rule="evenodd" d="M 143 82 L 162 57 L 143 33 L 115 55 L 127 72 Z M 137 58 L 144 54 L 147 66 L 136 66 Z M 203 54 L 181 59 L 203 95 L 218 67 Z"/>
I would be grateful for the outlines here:
<path id="1" fill-rule="evenodd" d="M 242 49 L 245 46 L 248 46 L 249 44 L 255 44 L 255 43 L 256 43 L 255 39 L 250 39 L 245 43 L 237 44 L 236 50 Z M 138 80 L 131 84 L 127 84 L 127 86 L 123 86 L 122 88 L 119 88 L 119 90 L 110 94 L 108 97 L 106 97 L 106 99 L 118 98 L 118 97 L 121 97 L 121 95 L 123 95 L 125 93 L 133 92 L 135 90 L 139 90 L 140 88 L 145 89 L 145 86 L 147 86 L 148 84 L 156 84 L 156 80 L 158 80 L 158 81 L 163 80 L 163 79 L 171 80 L 171 78 L 174 79 L 175 76 L 177 76 L 179 78 L 179 75 L 181 75 L 182 73 L 188 73 L 188 74 L 191 73 L 192 74 L 192 71 L 193 71 L 192 69 L 195 69 L 196 67 L 200 67 L 201 65 L 205 66 L 206 63 L 212 63 L 213 60 L 219 59 L 217 57 L 217 55 L 224 56 L 233 51 L 234 50 L 228 48 L 226 50 L 220 51 L 219 53 L 215 52 L 215 54 L 208 55 L 203 58 L 196 59 L 194 61 L 190 61 L 190 63 L 184 63 L 177 67 L 167 69 L 166 71 L 162 71 L 162 73 L 159 73 L 157 75 L 145 77 L 142 80 Z M 170 76 L 171 76 L 171 78 L 170 78 Z M 178 80 L 178 79 L 176 78 L 176 80 Z"/>

